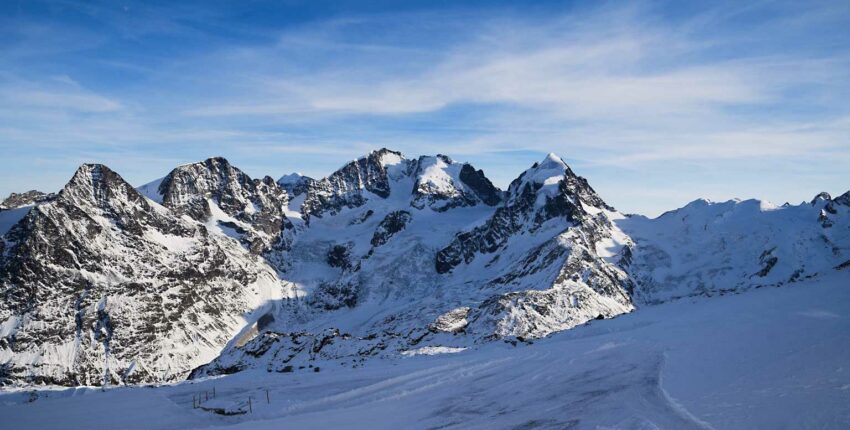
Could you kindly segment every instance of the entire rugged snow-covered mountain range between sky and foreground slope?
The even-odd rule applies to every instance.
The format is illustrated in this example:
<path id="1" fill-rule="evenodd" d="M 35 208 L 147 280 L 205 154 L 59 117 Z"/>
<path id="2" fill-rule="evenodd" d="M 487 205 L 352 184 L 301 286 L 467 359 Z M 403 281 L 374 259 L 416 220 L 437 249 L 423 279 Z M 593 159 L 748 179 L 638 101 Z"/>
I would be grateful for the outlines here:
<path id="1" fill-rule="evenodd" d="M 504 191 L 447 156 L 381 149 L 319 180 L 218 157 L 133 189 L 84 165 L 30 200 L 0 210 L 11 385 L 359 366 L 850 273 L 850 193 L 648 219 L 554 154 Z"/>

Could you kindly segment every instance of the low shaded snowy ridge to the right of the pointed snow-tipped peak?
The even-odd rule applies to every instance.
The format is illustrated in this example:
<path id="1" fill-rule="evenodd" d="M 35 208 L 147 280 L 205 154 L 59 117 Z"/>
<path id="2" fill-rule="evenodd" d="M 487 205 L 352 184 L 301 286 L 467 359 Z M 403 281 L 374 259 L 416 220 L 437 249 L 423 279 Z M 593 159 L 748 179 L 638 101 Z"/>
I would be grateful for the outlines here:
<path id="1" fill-rule="evenodd" d="M 629 269 L 638 302 L 782 285 L 850 261 L 850 193 L 796 206 L 696 200 L 617 224 L 636 243 Z"/>

